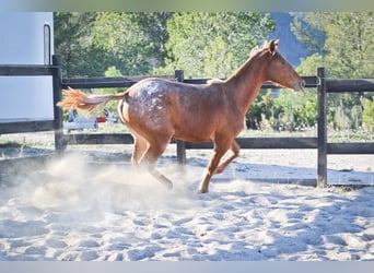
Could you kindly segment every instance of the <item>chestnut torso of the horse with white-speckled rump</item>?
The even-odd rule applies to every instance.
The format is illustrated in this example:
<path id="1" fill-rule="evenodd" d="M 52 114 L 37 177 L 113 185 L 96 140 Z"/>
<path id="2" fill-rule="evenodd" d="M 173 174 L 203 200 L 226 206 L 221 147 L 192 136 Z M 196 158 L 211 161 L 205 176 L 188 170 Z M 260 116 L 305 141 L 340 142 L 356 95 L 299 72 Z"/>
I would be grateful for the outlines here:
<path id="1" fill-rule="evenodd" d="M 194 85 L 156 78 L 130 88 L 127 123 L 149 131 L 172 131 L 187 141 L 209 141 L 224 120 L 226 97 L 219 83 Z"/>

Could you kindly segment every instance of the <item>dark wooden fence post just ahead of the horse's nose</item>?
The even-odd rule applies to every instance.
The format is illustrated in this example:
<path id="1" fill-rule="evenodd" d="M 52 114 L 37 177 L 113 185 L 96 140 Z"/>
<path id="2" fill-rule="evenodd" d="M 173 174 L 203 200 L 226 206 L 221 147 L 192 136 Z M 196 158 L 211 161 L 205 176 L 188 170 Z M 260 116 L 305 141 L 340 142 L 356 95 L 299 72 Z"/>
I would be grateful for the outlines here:
<path id="1" fill-rule="evenodd" d="M 326 69 L 318 68 L 317 86 L 318 100 L 318 167 L 317 187 L 326 187 L 327 183 L 327 112 L 326 112 Z"/>

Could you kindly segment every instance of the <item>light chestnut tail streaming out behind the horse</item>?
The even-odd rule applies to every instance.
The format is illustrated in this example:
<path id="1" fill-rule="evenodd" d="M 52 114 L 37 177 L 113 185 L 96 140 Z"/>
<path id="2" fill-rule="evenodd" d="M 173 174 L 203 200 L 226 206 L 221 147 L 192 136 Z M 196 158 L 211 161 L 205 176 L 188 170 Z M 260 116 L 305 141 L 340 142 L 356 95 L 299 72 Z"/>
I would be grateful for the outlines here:
<path id="1" fill-rule="evenodd" d="M 57 103 L 57 106 L 62 109 L 78 108 L 82 110 L 93 111 L 100 105 L 105 105 L 109 100 L 122 99 L 127 91 L 118 94 L 110 95 L 86 95 L 78 90 L 69 88 L 65 92 L 65 97 L 61 102 Z"/>

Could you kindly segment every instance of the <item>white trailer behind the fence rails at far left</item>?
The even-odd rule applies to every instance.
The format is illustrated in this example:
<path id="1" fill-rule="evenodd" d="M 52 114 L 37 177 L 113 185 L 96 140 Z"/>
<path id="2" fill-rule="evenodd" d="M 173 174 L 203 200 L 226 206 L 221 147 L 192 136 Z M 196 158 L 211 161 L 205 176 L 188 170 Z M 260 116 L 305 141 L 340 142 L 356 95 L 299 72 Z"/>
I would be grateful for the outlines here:
<path id="1" fill-rule="evenodd" d="M 46 26 L 49 45 L 45 45 Z M 54 15 L 0 12 L 0 66 L 46 64 L 54 54 Z M 0 134 L 7 123 L 44 120 L 54 120 L 51 76 L 0 76 Z"/>

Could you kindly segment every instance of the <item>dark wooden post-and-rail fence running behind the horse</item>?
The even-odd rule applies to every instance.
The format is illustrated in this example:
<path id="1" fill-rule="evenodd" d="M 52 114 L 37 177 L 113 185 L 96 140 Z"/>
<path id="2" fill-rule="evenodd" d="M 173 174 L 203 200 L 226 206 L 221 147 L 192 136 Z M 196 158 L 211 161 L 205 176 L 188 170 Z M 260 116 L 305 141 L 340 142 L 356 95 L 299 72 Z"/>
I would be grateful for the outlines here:
<path id="1" fill-rule="evenodd" d="M 62 88 L 102 88 L 129 87 L 142 78 L 87 78 L 62 79 L 61 62 L 57 56 L 52 57 L 51 66 L 0 66 L 0 75 L 51 75 L 54 81 L 54 105 L 61 98 Z M 175 71 L 174 76 L 165 76 L 190 84 L 203 84 L 204 79 L 184 79 L 182 70 Z M 318 100 L 318 132 L 316 138 L 237 138 L 242 149 L 317 149 L 317 186 L 327 185 L 327 155 L 328 154 L 374 154 L 374 143 L 328 143 L 327 142 L 327 93 L 341 92 L 374 92 L 374 80 L 328 80 L 325 68 L 318 68 L 316 76 L 303 76 L 306 88 L 317 87 Z M 262 88 L 278 88 L 265 83 Z M 58 153 L 63 152 L 69 144 L 132 144 L 129 133 L 79 133 L 65 134 L 62 128 L 62 111 L 55 106 L 55 120 L 31 122 L 27 124 L 1 124 L 0 134 L 24 131 L 55 130 L 55 146 Z M 46 122 L 46 123 L 45 123 Z M 26 128 L 27 130 L 23 130 Z M 9 130 L 10 129 L 10 130 Z M 186 150 L 212 149 L 212 143 L 189 143 L 173 140 L 177 146 L 177 161 L 186 162 Z"/>

